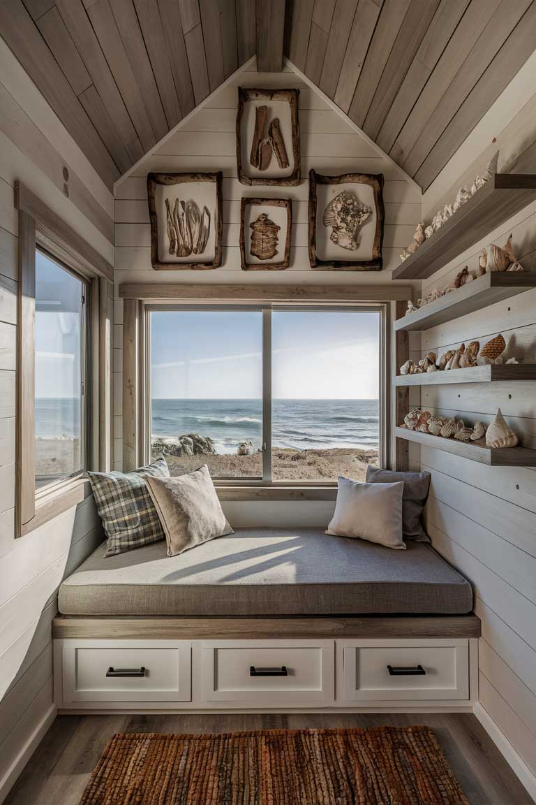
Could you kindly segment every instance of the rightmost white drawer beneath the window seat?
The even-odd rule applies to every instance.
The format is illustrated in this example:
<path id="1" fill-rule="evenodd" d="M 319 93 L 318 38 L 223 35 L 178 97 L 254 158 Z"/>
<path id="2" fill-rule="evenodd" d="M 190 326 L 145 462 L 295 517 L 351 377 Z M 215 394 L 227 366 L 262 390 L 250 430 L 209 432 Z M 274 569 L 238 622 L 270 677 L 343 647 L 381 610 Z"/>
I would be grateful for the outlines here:
<path id="1" fill-rule="evenodd" d="M 344 698 L 467 700 L 468 640 L 342 641 Z"/>

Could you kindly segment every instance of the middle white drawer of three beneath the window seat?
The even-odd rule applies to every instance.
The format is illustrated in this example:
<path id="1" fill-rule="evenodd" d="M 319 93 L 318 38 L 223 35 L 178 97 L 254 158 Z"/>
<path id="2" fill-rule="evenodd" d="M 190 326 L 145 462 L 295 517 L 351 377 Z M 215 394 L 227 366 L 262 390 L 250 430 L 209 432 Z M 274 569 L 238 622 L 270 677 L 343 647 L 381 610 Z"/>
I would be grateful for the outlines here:
<path id="1" fill-rule="evenodd" d="M 333 640 L 203 642 L 201 696 L 241 706 L 333 702 L 334 659 Z"/>

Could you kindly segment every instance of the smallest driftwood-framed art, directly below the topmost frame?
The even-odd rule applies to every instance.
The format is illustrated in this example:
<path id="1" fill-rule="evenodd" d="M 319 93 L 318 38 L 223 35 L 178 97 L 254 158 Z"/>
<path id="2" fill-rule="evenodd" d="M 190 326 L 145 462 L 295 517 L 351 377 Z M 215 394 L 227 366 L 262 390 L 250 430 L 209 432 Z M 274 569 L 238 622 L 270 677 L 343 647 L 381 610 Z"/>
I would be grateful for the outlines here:
<path id="1" fill-rule="evenodd" d="M 242 270 L 288 268 L 292 225 L 290 199 L 243 198 L 240 205 Z"/>

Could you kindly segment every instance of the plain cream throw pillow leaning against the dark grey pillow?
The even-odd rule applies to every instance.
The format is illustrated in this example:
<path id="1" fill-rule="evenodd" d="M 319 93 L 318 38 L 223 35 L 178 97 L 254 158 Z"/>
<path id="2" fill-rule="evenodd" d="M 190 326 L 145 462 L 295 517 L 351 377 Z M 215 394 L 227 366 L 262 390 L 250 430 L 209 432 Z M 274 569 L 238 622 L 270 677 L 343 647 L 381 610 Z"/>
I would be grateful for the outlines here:
<path id="1" fill-rule="evenodd" d="M 403 489 L 403 481 L 395 484 L 360 484 L 340 477 L 335 512 L 325 533 L 338 537 L 358 537 L 404 551 Z"/>

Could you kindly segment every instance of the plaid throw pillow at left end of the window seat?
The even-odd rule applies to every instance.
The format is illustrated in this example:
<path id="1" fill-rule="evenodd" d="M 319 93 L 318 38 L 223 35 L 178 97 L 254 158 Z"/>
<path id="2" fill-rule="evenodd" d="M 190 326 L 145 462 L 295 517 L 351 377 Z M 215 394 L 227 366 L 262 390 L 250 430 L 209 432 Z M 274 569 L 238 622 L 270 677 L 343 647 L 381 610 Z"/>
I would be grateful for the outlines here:
<path id="1" fill-rule="evenodd" d="M 159 458 L 133 473 L 88 473 L 96 509 L 108 545 L 104 556 L 133 551 L 166 539 L 145 477 L 169 478 L 166 459 Z"/>

